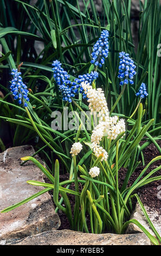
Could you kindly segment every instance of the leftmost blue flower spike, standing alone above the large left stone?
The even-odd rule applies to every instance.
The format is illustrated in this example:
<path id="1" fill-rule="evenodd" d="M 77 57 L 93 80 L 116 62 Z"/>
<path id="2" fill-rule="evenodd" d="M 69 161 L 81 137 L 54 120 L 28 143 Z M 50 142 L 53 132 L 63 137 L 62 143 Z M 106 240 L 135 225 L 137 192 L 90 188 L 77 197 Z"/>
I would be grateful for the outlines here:
<path id="1" fill-rule="evenodd" d="M 21 105 L 23 99 L 26 101 L 29 101 L 28 98 L 28 89 L 27 86 L 23 83 L 21 72 L 18 72 L 17 69 L 12 69 L 11 75 L 14 76 L 14 78 L 11 81 L 11 93 L 14 96 L 14 100 L 18 100 L 18 103 Z M 24 102 L 24 107 L 27 107 L 28 104 Z"/>

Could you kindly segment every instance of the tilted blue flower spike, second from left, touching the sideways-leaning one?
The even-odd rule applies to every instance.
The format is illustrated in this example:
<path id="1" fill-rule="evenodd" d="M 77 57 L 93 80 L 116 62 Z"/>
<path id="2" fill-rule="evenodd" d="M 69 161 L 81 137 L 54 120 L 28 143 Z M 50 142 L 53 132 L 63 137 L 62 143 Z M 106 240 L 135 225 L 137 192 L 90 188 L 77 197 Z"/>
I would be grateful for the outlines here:
<path id="1" fill-rule="evenodd" d="M 59 60 L 55 60 L 52 64 L 53 71 L 54 71 L 54 78 L 56 84 L 59 86 L 59 90 L 62 93 L 63 100 L 68 101 L 69 103 L 72 102 L 72 97 L 78 93 L 79 84 L 76 82 L 71 82 L 69 80 L 69 75 L 67 71 L 63 70 L 61 67 L 61 63 Z"/>

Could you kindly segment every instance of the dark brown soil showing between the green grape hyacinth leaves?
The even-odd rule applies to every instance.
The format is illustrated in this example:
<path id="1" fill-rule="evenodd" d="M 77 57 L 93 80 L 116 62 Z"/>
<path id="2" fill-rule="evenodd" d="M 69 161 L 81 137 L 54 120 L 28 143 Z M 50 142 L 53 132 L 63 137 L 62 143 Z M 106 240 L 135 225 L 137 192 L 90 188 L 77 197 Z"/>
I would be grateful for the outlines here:
<path id="1" fill-rule="evenodd" d="M 161 140 L 157 141 L 157 143 L 161 147 Z M 149 163 L 154 157 L 159 156 L 159 155 L 160 155 L 159 151 L 154 146 L 154 144 L 150 144 L 149 147 L 147 147 L 144 150 L 145 165 L 142 166 L 142 164 L 140 164 L 140 166 L 136 169 L 136 171 L 131 175 L 131 178 L 130 178 L 127 186 L 131 186 L 133 184 L 133 182 L 138 178 L 140 172 L 145 168 L 147 163 Z M 153 170 L 154 168 L 156 168 L 160 165 L 161 165 L 161 160 L 152 163 L 151 166 L 146 170 L 144 176 L 147 175 L 149 172 L 151 172 L 151 170 Z M 123 184 L 123 181 L 124 181 L 125 176 L 126 176 L 126 172 L 127 172 L 127 169 L 125 169 L 125 168 L 121 168 L 120 171 L 119 171 L 119 185 L 120 186 L 121 186 L 121 184 Z M 161 175 L 161 169 L 158 170 L 151 177 L 159 176 L 159 175 Z M 68 180 L 68 179 L 69 179 L 69 174 L 60 175 L 60 181 L 64 181 L 64 180 Z M 145 186 L 139 188 L 138 190 L 134 191 L 134 193 L 138 193 L 138 195 L 140 197 L 140 200 L 144 205 L 147 205 L 151 209 L 154 209 L 154 210 L 158 211 L 158 214 L 161 215 L 161 199 L 159 199 L 157 197 L 157 194 L 158 194 L 158 191 L 159 191 L 158 190 L 159 186 L 160 186 L 160 191 L 161 191 L 161 180 L 153 181 L 150 184 L 145 185 Z M 70 186 L 70 189 L 74 190 L 74 184 L 72 184 Z M 80 190 L 81 190 L 81 187 L 80 187 Z M 74 210 L 74 204 L 75 204 L 75 200 L 74 200 L 75 197 L 71 194 L 68 194 L 68 197 L 69 197 L 70 204 L 71 204 L 72 211 L 73 211 Z M 136 204 L 136 201 L 134 200 L 133 205 L 135 206 L 135 204 Z M 70 229 L 68 219 L 62 211 L 59 211 L 59 217 L 60 217 L 60 220 L 61 220 L 61 226 L 60 226 L 59 230 Z M 88 216 L 87 216 L 87 218 L 88 218 Z M 88 223 L 88 221 L 87 221 L 87 223 Z"/>

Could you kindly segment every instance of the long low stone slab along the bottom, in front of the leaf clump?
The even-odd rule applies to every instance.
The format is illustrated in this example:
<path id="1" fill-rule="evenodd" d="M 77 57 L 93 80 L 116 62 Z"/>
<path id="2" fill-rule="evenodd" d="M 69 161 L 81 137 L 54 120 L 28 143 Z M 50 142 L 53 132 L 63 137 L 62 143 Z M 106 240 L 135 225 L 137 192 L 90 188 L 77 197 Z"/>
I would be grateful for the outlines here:
<path id="1" fill-rule="evenodd" d="M 13 241 L 8 245 L 151 245 L 145 234 L 85 234 L 72 230 L 50 230 Z"/>

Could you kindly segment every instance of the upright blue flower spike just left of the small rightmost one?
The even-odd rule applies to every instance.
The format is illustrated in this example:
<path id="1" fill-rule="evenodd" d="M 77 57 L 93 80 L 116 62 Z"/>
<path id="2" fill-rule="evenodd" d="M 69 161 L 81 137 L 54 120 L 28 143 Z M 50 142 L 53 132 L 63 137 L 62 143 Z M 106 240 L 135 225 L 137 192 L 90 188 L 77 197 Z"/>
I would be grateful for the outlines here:
<path id="1" fill-rule="evenodd" d="M 120 86 L 124 84 L 133 84 L 133 78 L 136 75 L 136 65 L 134 65 L 134 61 L 129 57 L 128 53 L 120 52 L 120 65 L 119 65 L 119 75 L 118 78 L 121 79 Z"/>

